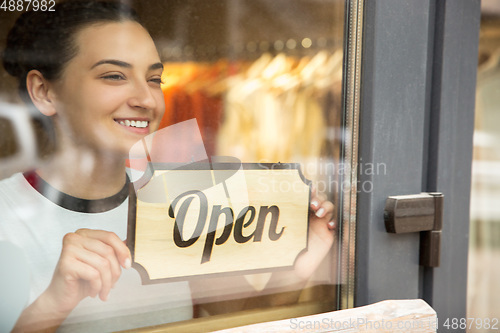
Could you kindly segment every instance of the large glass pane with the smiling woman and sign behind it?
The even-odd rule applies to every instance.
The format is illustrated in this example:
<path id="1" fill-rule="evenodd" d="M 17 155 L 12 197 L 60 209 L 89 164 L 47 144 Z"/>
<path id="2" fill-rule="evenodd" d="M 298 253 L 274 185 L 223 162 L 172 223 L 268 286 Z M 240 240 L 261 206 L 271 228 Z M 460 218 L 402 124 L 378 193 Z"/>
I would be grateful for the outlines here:
<path id="1" fill-rule="evenodd" d="M 15 23 L 28 3 L 0 11 L 18 325 L 207 331 L 353 306 L 362 1 L 122 2 L 142 27 L 91 1 Z M 11 142 L 32 152 L 7 168 Z"/>

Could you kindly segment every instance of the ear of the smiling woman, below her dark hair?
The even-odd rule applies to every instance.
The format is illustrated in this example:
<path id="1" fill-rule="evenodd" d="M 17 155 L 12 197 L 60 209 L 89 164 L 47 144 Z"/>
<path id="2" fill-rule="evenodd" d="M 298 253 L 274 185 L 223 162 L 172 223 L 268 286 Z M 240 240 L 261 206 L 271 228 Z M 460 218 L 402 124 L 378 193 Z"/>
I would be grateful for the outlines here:
<path id="1" fill-rule="evenodd" d="M 37 70 L 31 70 L 26 76 L 26 89 L 31 97 L 35 107 L 46 116 L 56 114 L 54 101 L 50 94 L 49 82 L 42 73 Z"/>

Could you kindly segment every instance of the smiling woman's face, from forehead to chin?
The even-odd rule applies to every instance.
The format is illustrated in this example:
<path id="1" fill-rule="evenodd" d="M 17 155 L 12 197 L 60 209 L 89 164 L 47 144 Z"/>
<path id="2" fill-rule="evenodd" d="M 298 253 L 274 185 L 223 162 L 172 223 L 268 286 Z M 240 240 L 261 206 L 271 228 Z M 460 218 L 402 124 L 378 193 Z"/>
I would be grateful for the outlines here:
<path id="1" fill-rule="evenodd" d="M 77 55 L 54 82 L 62 139 L 126 155 L 157 129 L 165 110 L 155 45 L 133 21 L 86 27 L 75 42 Z"/>

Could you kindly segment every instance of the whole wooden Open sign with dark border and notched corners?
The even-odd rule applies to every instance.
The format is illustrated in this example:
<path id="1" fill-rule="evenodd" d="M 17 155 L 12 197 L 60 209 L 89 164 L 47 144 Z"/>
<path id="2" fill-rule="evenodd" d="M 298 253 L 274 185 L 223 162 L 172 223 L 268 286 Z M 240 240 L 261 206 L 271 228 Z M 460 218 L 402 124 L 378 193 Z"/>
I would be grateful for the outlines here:
<path id="1" fill-rule="evenodd" d="M 144 284 L 293 266 L 307 248 L 298 164 L 154 165 L 131 186 L 128 246 Z"/>

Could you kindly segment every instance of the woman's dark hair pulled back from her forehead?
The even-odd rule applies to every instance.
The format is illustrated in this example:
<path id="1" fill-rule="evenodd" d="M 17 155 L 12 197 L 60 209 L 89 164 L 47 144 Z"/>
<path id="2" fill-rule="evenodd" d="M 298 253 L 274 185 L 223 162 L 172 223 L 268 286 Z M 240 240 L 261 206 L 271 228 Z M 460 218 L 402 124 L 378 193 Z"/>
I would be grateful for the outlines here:
<path id="1" fill-rule="evenodd" d="M 30 70 L 39 70 L 47 80 L 60 77 L 78 52 L 74 37 L 81 29 L 101 22 L 141 23 L 133 9 L 115 1 L 67 1 L 53 8 L 23 13 L 7 36 L 3 66 L 19 80 L 23 99 L 29 100 L 26 76 Z"/>

